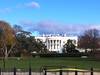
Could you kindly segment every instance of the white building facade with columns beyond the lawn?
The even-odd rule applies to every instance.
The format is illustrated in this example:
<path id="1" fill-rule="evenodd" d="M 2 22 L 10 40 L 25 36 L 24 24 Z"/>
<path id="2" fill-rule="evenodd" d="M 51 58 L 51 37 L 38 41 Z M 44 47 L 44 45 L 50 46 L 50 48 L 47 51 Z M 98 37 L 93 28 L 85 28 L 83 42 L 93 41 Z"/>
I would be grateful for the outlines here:
<path id="1" fill-rule="evenodd" d="M 61 53 L 63 45 L 67 43 L 67 41 L 70 39 L 72 40 L 73 44 L 77 46 L 78 43 L 78 37 L 77 36 L 38 36 L 35 37 L 35 39 L 40 39 L 43 41 L 43 43 L 46 45 L 47 49 L 49 51 L 56 51 Z"/>

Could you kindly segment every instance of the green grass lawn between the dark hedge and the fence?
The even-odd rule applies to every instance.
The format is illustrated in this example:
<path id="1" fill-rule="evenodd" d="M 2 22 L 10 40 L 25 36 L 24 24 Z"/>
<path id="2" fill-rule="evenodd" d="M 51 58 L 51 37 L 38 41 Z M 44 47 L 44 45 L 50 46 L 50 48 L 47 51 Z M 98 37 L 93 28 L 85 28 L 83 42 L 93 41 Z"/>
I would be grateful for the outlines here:
<path id="1" fill-rule="evenodd" d="M 6 68 L 29 68 L 29 65 L 39 70 L 42 66 L 68 66 L 78 67 L 82 69 L 100 69 L 100 61 L 95 61 L 88 58 L 71 58 L 71 57 L 52 57 L 52 58 L 30 58 L 30 59 L 17 59 L 9 58 L 6 60 Z M 0 67 L 3 68 L 3 61 L 0 60 Z"/>

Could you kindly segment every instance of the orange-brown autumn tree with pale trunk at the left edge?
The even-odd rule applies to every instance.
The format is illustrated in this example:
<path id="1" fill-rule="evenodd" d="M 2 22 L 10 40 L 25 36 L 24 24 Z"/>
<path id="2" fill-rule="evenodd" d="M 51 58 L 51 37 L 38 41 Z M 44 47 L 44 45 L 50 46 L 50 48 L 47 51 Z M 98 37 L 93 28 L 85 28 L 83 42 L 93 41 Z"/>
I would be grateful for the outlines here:
<path id="1" fill-rule="evenodd" d="M 5 21 L 0 21 L 0 52 L 2 52 L 5 59 L 7 59 L 15 46 L 15 41 L 13 29 L 10 24 Z"/>

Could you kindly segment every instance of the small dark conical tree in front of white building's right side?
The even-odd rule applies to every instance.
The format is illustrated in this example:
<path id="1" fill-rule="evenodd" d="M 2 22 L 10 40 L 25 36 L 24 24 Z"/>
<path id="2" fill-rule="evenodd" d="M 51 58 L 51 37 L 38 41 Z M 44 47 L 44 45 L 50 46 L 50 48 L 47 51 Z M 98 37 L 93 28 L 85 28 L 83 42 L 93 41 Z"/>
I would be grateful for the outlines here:
<path id="1" fill-rule="evenodd" d="M 76 46 L 72 43 L 72 40 L 67 40 L 67 43 L 63 46 L 63 53 L 77 53 Z"/>

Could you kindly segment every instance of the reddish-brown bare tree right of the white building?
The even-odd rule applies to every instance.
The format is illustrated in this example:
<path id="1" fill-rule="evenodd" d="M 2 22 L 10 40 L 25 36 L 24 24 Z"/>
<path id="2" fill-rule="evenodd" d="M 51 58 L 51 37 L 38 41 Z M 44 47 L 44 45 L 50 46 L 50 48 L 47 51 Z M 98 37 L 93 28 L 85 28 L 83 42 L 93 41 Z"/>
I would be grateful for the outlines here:
<path id="1" fill-rule="evenodd" d="M 78 47 L 86 50 L 91 49 L 95 51 L 100 48 L 100 35 L 99 31 L 96 29 L 86 30 L 83 35 L 79 36 Z"/>

